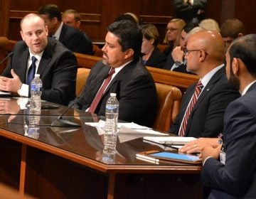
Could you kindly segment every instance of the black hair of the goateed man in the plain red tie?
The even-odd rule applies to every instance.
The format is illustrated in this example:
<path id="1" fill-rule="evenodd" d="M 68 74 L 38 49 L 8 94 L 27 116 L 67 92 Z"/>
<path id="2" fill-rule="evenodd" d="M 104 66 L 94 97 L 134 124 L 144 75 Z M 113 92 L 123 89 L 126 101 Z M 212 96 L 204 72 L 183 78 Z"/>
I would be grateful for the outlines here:
<path id="1" fill-rule="evenodd" d="M 134 50 L 134 60 L 139 58 L 142 49 L 142 30 L 128 20 L 115 21 L 107 27 L 107 31 L 117 36 L 122 51 Z"/>

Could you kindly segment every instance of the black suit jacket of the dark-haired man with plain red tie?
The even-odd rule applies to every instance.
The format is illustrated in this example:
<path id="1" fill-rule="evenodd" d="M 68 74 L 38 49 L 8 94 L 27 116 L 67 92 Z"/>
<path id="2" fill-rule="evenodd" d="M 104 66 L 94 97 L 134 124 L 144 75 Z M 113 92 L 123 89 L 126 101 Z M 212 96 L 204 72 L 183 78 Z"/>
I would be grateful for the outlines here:
<path id="1" fill-rule="evenodd" d="M 102 61 L 92 68 L 82 92 L 85 96 L 77 104 L 79 109 L 85 110 L 90 107 L 109 70 L 110 67 L 104 65 Z M 105 116 L 105 105 L 110 92 L 117 93 L 119 119 L 147 127 L 153 125 L 157 109 L 156 85 L 141 60 L 132 61 L 118 72 L 102 96 L 96 114 Z"/>

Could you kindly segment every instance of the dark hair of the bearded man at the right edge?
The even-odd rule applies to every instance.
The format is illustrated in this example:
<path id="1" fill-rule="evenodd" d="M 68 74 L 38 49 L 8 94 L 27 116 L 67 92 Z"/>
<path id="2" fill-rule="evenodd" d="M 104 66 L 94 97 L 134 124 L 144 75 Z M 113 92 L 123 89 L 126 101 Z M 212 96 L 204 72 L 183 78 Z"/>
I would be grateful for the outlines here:
<path id="1" fill-rule="evenodd" d="M 230 45 L 230 63 L 233 58 L 239 58 L 251 75 L 256 77 L 256 34 L 250 34 L 235 39 Z"/>

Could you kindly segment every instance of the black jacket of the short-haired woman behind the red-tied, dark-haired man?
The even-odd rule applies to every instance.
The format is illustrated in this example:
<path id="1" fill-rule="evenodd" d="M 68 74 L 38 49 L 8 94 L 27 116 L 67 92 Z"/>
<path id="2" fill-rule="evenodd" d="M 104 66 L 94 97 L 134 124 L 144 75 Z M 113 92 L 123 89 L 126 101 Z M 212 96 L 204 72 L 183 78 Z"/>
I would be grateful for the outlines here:
<path id="1" fill-rule="evenodd" d="M 151 66 L 154 68 L 164 68 L 166 63 L 166 55 L 161 53 L 158 48 L 154 48 L 149 59 L 146 61 L 146 66 Z"/>

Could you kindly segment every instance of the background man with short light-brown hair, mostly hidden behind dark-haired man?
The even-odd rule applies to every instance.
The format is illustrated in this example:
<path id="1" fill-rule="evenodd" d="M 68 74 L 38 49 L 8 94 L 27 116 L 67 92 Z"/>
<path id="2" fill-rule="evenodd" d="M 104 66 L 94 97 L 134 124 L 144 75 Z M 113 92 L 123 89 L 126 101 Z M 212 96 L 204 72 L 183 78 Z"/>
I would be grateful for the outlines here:
<path id="1" fill-rule="evenodd" d="M 79 31 L 81 31 L 80 30 L 81 20 L 80 20 L 80 14 L 78 13 L 78 11 L 75 11 L 73 9 L 65 10 L 62 15 L 62 20 L 63 20 L 63 23 L 67 24 L 68 26 L 77 28 Z M 82 32 L 82 33 L 87 39 L 90 45 L 90 48 L 92 48 L 92 41 L 90 40 L 90 38 L 87 36 L 85 32 Z"/>

